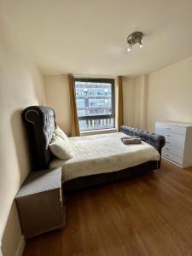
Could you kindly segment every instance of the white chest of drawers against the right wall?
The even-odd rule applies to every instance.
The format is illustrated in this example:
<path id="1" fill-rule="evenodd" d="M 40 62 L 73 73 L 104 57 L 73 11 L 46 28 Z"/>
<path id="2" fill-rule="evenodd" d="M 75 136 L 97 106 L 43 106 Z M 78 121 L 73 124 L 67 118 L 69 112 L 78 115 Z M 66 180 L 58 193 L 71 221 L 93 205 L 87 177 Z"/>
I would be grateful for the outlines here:
<path id="1" fill-rule="evenodd" d="M 156 122 L 155 133 L 166 138 L 162 158 L 179 166 L 192 166 L 192 125 L 177 122 Z"/>

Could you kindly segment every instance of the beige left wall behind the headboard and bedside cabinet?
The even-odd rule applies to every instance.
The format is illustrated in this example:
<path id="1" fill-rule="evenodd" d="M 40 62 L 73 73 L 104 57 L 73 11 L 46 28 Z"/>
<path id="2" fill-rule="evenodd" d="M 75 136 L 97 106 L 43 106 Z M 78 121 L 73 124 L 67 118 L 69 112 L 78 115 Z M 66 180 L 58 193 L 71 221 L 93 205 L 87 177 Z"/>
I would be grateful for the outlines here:
<path id="1" fill-rule="evenodd" d="M 14 198 L 30 170 L 20 113 L 43 101 L 43 86 L 25 46 L 1 13 L 0 31 L 0 241 L 3 256 L 13 256 L 21 241 Z"/>

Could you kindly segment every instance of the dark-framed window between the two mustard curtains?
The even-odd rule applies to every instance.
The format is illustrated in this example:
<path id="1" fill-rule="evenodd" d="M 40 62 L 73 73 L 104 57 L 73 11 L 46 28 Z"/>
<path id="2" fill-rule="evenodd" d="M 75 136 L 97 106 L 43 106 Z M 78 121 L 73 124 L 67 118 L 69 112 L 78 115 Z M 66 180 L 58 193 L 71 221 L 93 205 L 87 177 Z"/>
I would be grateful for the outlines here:
<path id="1" fill-rule="evenodd" d="M 113 128 L 114 80 L 75 79 L 80 131 Z"/>

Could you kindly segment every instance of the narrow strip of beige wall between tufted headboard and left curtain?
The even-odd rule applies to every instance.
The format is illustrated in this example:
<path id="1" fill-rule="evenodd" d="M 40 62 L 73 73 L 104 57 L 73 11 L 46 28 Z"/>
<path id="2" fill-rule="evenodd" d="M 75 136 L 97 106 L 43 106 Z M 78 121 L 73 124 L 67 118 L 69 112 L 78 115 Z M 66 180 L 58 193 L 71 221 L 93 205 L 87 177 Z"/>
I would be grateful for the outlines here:
<path id="1" fill-rule="evenodd" d="M 46 104 L 55 109 L 56 122 L 69 136 L 70 128 L 70 99 L 67 76 L 44 75 L 44 90 Z"/>

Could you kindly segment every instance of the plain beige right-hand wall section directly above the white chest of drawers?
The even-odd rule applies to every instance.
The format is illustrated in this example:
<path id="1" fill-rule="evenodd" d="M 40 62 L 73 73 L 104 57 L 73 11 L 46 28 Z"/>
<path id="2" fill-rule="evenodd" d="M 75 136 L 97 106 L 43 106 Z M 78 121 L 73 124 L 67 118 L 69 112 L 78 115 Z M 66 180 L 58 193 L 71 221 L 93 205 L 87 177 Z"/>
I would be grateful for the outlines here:
<path id="1" fill-rule="evenodd" d="M 148 77 L 148 130 L 164 120 L 192 123 L 192 57 Z"/>

